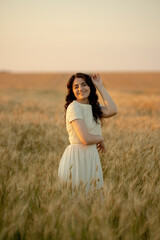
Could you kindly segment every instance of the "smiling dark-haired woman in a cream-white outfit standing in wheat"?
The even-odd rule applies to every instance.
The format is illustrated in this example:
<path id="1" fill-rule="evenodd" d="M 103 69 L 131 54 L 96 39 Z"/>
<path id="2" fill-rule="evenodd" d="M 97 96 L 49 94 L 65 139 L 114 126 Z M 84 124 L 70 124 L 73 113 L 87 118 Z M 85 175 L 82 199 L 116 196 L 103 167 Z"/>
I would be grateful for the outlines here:
<path id="1" fill-rule="evenodd" d="M 76 73 L 67 83 L 65 117 L 70 145 L 59 163 L 61 182 L 72 180 L 72 189 L 83 183 L 88 190 L 103 188 L 103 173 L 98 152 L 105 152 L 101 134 L 102 118 L 117 114 L 117 107 L 99 75 Z M 98 102 L 96 89 L 104 106 Z"/>

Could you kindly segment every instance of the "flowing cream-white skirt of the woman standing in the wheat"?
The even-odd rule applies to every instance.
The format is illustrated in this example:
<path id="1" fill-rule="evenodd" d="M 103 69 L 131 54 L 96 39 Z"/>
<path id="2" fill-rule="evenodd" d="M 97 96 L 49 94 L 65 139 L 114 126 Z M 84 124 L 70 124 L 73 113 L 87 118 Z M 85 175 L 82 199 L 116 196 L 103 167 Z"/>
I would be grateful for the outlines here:
<path id="1" fill-rule="evenodd" d="M 86 192 L 103 187 L 103 172 L 96 144 L 68 145 L 59 163 L 58 176 L 63 183 L 71 179 L 72 187 L 84 183 Z"/>

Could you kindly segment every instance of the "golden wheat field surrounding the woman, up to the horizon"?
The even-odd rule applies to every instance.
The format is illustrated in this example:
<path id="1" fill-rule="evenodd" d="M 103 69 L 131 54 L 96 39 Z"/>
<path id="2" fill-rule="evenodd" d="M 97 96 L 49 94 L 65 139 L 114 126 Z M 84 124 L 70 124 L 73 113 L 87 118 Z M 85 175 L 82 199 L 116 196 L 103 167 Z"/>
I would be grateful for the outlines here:
<path id="1" fill-rule="evenodd" d="M 71 74 L 0 74 L 0 239 L 160 239 L 160 73 L 100 75 L 103 200 L 59 186 Z"/>

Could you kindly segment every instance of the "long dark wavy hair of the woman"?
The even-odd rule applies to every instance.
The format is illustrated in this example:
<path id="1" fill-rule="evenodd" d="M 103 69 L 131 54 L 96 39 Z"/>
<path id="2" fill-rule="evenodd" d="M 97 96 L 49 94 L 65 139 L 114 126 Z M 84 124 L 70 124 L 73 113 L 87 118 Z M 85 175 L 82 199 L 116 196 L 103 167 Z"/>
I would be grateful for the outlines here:
<path id="1" fill-rule="evenodd" d="M 92 82 L 92 78 L 90 75 L 85 74 L 85 73 L 76 73 L 74 75 L 72 75 L 70 77 L 70 79 L 67 82 L 67 89 L 68 89 L 68 93 L 66 95 L 66 103 L 64 105 L 64 109 L 65 109 L 65 118 L 66 118 L 66 110 L 67 107 L 69 106 L 69 104 L 71 102 L 73 102 L 74 100 L 76 100 L 76 97 L 73 93 L 73 81 L 75 80 L 75 78 L 83 78 L 85 80 L 85 82 L 87 83 L 87 85 L 90 87 L 90 95 L 88 97 L 89 100 L 89 104 L 91 104 L 92 106 L 92 112 L 93 112 L 93 117 L 94 120 L 96 121 L 96 123 L 98 123 L 98 119 L 102 121 L 102 111 L 100 108 L 100 104 L 98 102 L 98 95 L 96 94 L 96 87 L 94 86 L 94 83 Z"/>

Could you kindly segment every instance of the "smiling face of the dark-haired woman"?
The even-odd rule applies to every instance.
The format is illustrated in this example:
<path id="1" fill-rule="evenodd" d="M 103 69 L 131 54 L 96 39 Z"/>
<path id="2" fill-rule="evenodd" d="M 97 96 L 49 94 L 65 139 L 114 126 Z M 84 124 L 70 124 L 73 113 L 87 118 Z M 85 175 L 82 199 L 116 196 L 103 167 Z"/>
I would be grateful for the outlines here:
<path id="1" fill-rule="evenodd" d="M 75 78 L 72 85 L 77 100 L 86 101 L 90 95 L 90 87 L 83 78 Z"/>

